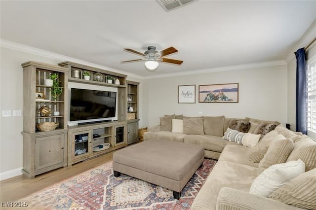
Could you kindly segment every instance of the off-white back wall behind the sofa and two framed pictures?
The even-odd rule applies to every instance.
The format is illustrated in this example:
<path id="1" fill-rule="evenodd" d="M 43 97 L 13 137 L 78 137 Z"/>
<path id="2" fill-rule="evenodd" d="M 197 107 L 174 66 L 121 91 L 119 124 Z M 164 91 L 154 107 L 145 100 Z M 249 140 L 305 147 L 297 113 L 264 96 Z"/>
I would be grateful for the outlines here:
<path id="1" fill-rule="evenodd" d="M 239 103 L 198 103 L 198 85 L 239 83 Z M 178 104 L 178 85 L 196 85 L 196 104 Z M 201 111 L 202 114 L 198 114 Z M 164 114 L 252 117 L 287 122 L 287 66 L 144 80 L 145 125 Z"/>

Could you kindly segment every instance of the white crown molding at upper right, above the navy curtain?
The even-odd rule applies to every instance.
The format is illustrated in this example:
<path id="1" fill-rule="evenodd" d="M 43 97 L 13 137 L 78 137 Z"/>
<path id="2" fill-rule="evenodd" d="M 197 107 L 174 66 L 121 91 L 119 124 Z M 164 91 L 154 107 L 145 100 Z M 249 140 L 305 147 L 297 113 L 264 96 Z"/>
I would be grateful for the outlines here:
<path id="1" fill-rule="evenodd" d="M 291 49 L 289 54 L 285 57 L 285 61 L 287 63 L 290 63 L 292 61 L 292 59 L 295 58 L 294 52 L 296 52 L 298 49 L 303 48 L 306 45 L 308 45 L 315 37 L 316 37 L 316 19 L 311 24 L 311 26 L 308 28 L 308 30 L 304 33 L 304 35 L 302 35 L 302 37 L 296 42 L 296 44 Z"/>

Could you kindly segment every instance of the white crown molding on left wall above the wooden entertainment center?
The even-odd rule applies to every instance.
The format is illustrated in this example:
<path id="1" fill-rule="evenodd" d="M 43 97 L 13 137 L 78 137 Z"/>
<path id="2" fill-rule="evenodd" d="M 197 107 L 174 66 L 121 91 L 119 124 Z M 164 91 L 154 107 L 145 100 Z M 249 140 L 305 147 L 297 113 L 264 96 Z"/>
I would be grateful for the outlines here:
<path id="1" fill-rule="evenodd" d="M 34 54 L 34 55 L 39 55 L 39 56 L 42 56 L 42 57 L 45 57 L 45 58 L 56 59 L 56 60 L 60 60 L 60 61 L 71 61 L 71 62 L 74 62 L 74 63 L 78 63 L 78 64 L 90 66 L 90 67 L 95 67 L 95 68 L 98 68 L 98 69 L 115 71 L 115 72 L 118 72 L 118 73 L 126 74 L 127 76 L 133 77 L 133 78 L 136 78 L 136 79 L 144 79 L 143 76 L 140 76 L 140 75 L 137 75 L 137 74 L 134 74 L 134 73 L 129 73 L 129 72 L 126 72 L 126 71 L 117 70 L 117 69 L 109 68 L 109 67 L 106 67 L 106 66 L 89 63 L 89 62 L 82 61 L 82 60 L 79 60 L 79 59 L 76 59 L 76 58 L 72 58 L 72 57 L 69 57 L 69 56 L 65 56 L 65 55 L 49 52 L 49 51 L 42 50 L 42 49 L 35 48 L 35 47 L 30 47 L 28 45 L 16 43 L 16 42 L 5 40 L 5 39 L 0 39 L 0 46 L 1 47 L 5 47 L 5 48 L 9 48 L 9 49 L 12 49 L 12 50 L 17 50 L 17 51 L 21 51 L 21 52 Z"/>

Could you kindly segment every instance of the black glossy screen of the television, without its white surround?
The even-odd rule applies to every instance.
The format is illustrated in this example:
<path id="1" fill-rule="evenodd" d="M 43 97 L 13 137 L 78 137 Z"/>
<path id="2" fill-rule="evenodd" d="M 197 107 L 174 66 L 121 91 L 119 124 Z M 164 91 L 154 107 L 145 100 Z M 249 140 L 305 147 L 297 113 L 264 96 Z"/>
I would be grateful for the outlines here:
<path id="1" fill-rule="evenodd" d="M 117 93 L 71 88 L 70 121 L 115 117 Z"/>

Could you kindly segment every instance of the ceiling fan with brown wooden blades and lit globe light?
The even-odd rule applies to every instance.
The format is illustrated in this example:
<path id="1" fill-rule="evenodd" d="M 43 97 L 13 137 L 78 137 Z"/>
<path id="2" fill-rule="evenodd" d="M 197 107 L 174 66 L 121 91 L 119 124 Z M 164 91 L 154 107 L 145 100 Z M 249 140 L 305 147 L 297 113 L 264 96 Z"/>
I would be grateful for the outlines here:
<path id="1" fill-rule="evenodd" d="M 124 50 L 128 52 L 135 53 L 137 55 L 143 56 L 142 59 L 135 59 L 135 60 L 129 60 L 129 61 L 121 61 L 120 63 L 127 63 L 127 62 L 135 62 L 135 61 L 146 61 L 145 67 L 148 71 L 155 71 L 158 68 L 158 61 L 164 62 L 164 63 L 170 63 L 170 64 L 176 64 L 181 65 L 183 61 L 175 60 L 175 59 L 169 59 L 164 58 L 164 56 L 170 55 L 172 53 L 178 52 L 178 50 L 174 47 L 169 47 L 167 49 L 161 50 L 160 52 L 156 51 L 156 47 L 149 46 L 148 50 L 146 50 L 144 53 L 137 52 L 132 49 L 124 48 Z"/>

